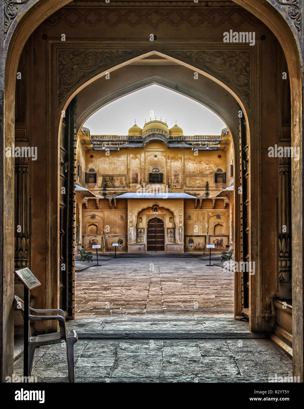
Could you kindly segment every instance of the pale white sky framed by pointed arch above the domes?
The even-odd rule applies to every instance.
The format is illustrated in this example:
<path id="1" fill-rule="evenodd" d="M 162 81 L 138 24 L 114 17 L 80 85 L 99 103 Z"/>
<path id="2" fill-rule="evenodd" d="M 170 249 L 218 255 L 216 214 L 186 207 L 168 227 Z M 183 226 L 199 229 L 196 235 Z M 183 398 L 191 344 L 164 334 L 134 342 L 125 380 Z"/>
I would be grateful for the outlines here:
<path id="1" fill-rule="evenodd" d="M 177 125 L 184 135 L 220 135 L 225 123 L 211 110 L 200 103 L 159 85 L 132 92 L 100 108 L 86 120 L 84 126 L 91 135 L 127 135 L 136 124 L 143 128 L 145 119 L 167 121 L 169 128 Z"/>

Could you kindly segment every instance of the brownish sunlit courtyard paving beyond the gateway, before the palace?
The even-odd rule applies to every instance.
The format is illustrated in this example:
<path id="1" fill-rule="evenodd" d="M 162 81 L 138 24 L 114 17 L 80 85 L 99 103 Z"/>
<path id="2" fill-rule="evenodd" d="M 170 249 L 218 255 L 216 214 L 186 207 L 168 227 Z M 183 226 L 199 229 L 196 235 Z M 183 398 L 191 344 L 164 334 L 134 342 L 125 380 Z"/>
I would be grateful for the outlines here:
<path id="1" fill-rule="evenodd" d="M 233 313 L 233 273 L 200 258 L 112 258 L 75 273 L 76 317 Z"/>

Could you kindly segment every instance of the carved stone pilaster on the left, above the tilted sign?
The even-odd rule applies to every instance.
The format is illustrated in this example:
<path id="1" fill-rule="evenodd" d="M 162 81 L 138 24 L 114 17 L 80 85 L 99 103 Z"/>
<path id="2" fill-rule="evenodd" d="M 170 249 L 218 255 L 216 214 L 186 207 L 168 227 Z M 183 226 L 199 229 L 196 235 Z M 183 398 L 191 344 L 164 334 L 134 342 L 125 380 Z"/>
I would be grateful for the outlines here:
<path id="1" fill-rule="evenodd" d="M 28 158 L 15 158 L 15 267 L 29 266 Z"/>

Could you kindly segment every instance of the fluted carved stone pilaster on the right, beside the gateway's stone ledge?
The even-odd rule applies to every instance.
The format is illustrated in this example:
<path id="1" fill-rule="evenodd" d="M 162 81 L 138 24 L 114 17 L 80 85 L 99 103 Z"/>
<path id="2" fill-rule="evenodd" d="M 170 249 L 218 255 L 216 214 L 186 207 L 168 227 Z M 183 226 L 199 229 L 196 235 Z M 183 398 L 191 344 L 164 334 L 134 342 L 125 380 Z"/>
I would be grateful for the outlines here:
<path id="1" fill-rule="evenodd" d="M 291 160 L 279 158 L 279 297 L 291 298 Z"/>

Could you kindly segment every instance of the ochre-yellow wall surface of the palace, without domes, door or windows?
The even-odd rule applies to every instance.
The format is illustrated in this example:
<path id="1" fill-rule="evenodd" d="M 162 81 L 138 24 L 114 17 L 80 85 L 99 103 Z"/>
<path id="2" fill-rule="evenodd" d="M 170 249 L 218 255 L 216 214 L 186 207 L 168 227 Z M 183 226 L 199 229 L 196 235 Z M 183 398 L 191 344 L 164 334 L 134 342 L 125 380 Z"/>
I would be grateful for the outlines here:
<path id="1" fill-rule="evenodd" d="M 209 236 L 214 234 L 229 236 L 227 243 L 226 239 L 224 240 L 225 244 L 233 246 L 230 228 L 233 192 L 229 197 L 215 198 L 217 193 L 233 182 L 233 177 L 230 177 L 233 146 L 229 134 L 222 137 L 219 149 L 214 151 L 168 148 L 166 144 L 155 141 L 148 142 L 144 148 L 98 151 L 94 150 L 92 145 L 85 143 L 87 140 L 82 131 L 79 131 L 79 134 L 76 158 L 83 167 L 82 178 L 77 178 L 77 183 L 95 195 L 95 198 L 81 199 L 76 195 L 76 201 L 81 209 L 79 248 L 83 244 L 80 241 L 93 232 L 97 236 L 102 236 L 101 251 L 103 252 L 114 251 L 114 248 L 110 249 L 109 246 L 108 249 L 105 248 L 106 236 L 117 239 L 121 236 L 124 244 L 117 248 L 117 251 L 146 252 L 147 220 L 153 216 L 151 208 L 155 204 L 160 208 L 159 214 L 163 215 L 165 252 L 205 251 Z M 163 191 L 168 188 L 169 192 L 188 193 L 195 196 L 197 200 L 115 199 L 123 193 L 136 192 L 144 183 L 146 187 L 149 186 L 149 173 L 154 166 L 160 167 L 163 173 L 161 185 Z M 91 168 L 96 171 L 96 183 L 84 183 L 85 172 Z M 219 168 L 226 172 L 226 183 L 215 183 L 214 173 Z M 134 183 L 135 174 L 138 175 L 137 183 Z M 209 182 L 209 196 L 206 196 L 206 182 Z M 103 191 L 104 183 L 107 183 L 106 198 Z M 142 222 L 138 221 L 139 217 L 142 218 Z M 170 217 L 172 222 L 169 222 Z M 136 241 L 138 227 L 145 228 L 144 243 Z M 167 242 L 168 227 L 175 228 L 175 243 Z M 189 238 L 192 236 L 195 236 L 194 244 L 189 247 Z M 211 244 L 215 238 L 211 238 Z"/>

